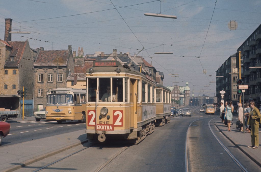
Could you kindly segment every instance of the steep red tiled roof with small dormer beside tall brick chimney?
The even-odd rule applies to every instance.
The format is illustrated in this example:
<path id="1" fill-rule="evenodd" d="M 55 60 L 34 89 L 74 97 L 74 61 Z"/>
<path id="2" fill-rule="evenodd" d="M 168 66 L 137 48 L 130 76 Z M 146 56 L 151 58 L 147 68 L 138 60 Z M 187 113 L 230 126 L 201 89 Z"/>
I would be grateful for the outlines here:
<path id="1" fill-rule="evenodd" d="M 14 67 L 14 66 L 18 66 L 24 50 L 25 50 L 25 46 L 27 43 L 26 41 L 9 41 L 8 42 L 13 48 L 10 52 L 10 57 L 14 57 L 14 61 L 11 61 L 10 58 L 8 58 L 8 60 L 5 62 L 5 67 Z"/>

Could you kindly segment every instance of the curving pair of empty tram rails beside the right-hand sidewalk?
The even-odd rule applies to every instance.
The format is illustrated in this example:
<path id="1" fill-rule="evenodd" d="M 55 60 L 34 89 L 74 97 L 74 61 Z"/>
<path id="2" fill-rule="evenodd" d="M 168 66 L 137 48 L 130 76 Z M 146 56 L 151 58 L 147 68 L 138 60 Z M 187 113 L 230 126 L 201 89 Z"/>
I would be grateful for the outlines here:
<path id="1" fill-rule="evenodd" d="M 197 112 L 198 113 L 198 112 Z M 203 118 L 204 119 L 204 118 Z M 191 125 L 198 121 L 198 120 L 203 120 L 203 119 L 196 119 L 193 120 L 187 129 L 186 132 L 186 142 L 185 142 L 185 171 L 188 172 L 189 171 L 189 164 L 188 164 L 188 137 L 190 135 L 190 129 L 191 129 Z M 208 122 L 208 128 L 210 129 L 212 135 L 216 138 L 217 142 L 221 145 L 221 147 L 226 151 L 226 153 L 229 155 L 229 157 L 232 159 L 232 161 L 240 168 L 241 171 L 248 171 L 240 162 L 239 160 L 226 148 L 226 146 L 221 142 L 221 140 L 216 136 L 216 134 L 213 132 L 213 130 L 211 129 L 210 126 L 210 122 L 215 119 L 212 118 L 211 120 L 209 120 Z"/>

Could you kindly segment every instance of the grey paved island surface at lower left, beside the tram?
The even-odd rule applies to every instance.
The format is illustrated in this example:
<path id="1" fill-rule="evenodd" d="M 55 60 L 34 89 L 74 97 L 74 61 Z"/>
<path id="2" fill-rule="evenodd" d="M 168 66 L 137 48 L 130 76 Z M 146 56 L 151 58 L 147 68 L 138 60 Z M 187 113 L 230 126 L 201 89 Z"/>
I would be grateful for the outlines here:
<path id="1" fill-rule="evenodd" d="M 35 120 L 34 117 L 27 118 L 27 120 L 33 119 Z M 17 120 L 20 121 L 22 119 Z M 17 170 L 85 142 L 88 142 L 88 139 L 84 129 L 0 147 L 0 171 Z"/>

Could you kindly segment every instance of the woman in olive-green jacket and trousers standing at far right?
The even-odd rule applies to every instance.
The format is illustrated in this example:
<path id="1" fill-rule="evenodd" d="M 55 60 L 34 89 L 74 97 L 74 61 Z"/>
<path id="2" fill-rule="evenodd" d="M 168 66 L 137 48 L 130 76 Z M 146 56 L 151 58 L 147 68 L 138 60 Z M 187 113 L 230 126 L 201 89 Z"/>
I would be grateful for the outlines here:
<path id="1" fill-rule="evenodd" d="M 261 118 L 261 114 L 257 109 L 257 107 L 255 107 L 255 105 L 256 104 L 254 101 L 250 102 L 251 112 L 247 122 L 251 126 L 251 145 L 247 147 L 253 149 L 257 149 L 259 147 L 258 129 L 259 129 L 259 123 Z"/>

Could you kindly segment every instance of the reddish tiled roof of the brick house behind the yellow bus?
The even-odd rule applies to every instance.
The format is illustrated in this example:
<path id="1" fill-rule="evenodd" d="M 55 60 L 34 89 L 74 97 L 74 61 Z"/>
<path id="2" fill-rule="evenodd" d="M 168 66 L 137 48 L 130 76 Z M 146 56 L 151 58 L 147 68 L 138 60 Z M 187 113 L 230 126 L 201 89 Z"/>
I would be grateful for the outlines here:
<path id="1" fill-rule="evenodd" d="M 67 66 L 70 50 L 41 50 L 34 66 Z M 58 60 L 57 60 L 58 58 Z"/>

